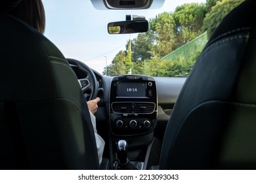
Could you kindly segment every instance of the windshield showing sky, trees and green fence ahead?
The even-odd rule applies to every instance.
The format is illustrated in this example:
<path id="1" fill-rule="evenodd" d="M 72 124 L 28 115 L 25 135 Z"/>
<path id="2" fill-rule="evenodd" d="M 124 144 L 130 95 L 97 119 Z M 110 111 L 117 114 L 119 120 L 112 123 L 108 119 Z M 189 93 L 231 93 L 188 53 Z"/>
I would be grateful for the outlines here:
<path id="1" fill-rule="evenodd" d="M 221 2 L 228 3 L 180 0 L 154 10 L 96 10 L 91 1 L 43 0 L 45 36 L 66 58 L 79 59 L 102 75 L 186 76 L 219 16 L 242 1 Z M 127 14 L 144 16 L 148 32 L 108 34 L 108 23 L 124 21 Z"/>

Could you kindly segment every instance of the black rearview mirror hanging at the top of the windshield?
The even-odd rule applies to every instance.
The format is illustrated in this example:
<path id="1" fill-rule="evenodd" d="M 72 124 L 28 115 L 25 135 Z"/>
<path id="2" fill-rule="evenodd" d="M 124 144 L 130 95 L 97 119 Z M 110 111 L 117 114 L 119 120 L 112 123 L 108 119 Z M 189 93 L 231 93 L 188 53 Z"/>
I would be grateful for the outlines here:
<path id="1" fill-rule="evenodd" d="M 144 33 L 148 31 L 148 20 L 127 20 L 108 23 L 109 34 Z"/>

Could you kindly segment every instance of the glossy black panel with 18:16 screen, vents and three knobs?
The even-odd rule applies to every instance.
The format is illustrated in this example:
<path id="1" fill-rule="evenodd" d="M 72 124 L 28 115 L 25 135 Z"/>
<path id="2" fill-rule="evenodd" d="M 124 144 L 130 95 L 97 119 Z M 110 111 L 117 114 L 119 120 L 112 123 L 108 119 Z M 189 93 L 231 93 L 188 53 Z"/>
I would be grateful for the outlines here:
<path id="1" fill-rule="evenodd" d="M 158 97 L 154 78 L 124 75 L 112 78 L 110 125 L 114 135 L 139 135 L 156 126 Z"/>

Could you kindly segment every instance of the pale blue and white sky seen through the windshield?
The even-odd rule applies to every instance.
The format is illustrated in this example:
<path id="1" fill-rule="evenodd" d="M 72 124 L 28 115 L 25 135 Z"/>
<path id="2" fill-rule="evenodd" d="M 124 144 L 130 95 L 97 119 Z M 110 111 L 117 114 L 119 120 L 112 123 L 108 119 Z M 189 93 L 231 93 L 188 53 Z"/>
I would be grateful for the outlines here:
<path id="1" fill-rule="evenodd" d="M 96 10 L 90 0 L 42 0 L 45 7 L 45 36 L 66 58 L 83 61 L 102 73 L 129 39 L 137 34 L 109 35 L 109 22 L 124 21 L 126 14 L 154 18 L 161 12 L 173 12 L 184 3 L 205 3 L 205 0 L 165 0 L 163 7 L 147 10 Z"/>

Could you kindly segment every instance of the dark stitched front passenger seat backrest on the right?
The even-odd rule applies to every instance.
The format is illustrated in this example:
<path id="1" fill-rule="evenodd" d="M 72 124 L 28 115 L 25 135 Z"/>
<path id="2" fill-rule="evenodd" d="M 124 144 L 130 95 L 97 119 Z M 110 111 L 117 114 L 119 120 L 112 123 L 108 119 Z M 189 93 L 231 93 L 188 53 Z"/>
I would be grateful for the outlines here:
<path id="1" fill-rule="evenodd" d="M 196 61 L 167 124 L 160 169 L 256 169 L 255 4 L 230 12 Z"/>

